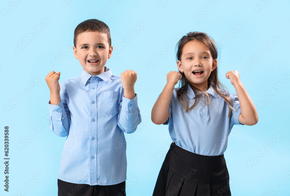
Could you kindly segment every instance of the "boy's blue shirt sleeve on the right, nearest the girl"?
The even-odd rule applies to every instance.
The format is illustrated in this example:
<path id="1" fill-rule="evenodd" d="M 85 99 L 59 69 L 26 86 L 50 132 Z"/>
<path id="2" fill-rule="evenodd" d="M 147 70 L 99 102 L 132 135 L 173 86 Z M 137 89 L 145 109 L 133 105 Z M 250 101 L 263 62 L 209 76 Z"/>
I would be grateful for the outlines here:
<path id="1" fill-rule="evenodd" d="M 122 97 L 119 104 L 118 126 L 124 133 L 134 133 L 137 126 L 141 123 L 140 110 L 137 103 L 137 94 L 130 100 Z"/>

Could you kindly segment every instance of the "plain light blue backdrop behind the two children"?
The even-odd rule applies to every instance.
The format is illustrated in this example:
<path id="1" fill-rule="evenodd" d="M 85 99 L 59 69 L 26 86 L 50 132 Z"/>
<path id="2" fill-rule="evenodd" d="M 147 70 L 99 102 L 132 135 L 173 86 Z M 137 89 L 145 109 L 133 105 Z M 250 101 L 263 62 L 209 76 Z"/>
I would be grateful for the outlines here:
<path id="1" fill-rule="evenodd" d="M 126 69 L 132 69 L 138 77 L 135 92 L 143 122 L 135 133 L 126 134 L 127 195 L 153 193 L 171 141 L 168 126 L 152 123 L 151 109 L 166 84 L 166 74 L 177 71 L 175 39 L 190 31 L 204 31 L 217 43 L 224 43 L 219 47 L 220 80 L 231 93 L 235 93 L 225 73 L 238 70 L 258 111 L 258 124 L 236 126 L 229 136 L 224 156 L 232 195 L 289 194 L 290 81 L 284 81 L 284 78 L 290 73 L 290 2 L 164 0 L 164 5 L 162 0 L 114 2 L 1 1 L 0 149 L 3 154 L 0 157 L 4 158 L 4 126 L 9 126 L 10 186 L 9 193 L 3 190 L 5 166 L 1 158 L 0 195 L 21 195 L 19 193 L 23 190 L 25 196 L 57 195 L 60 159 L 55 157 L 62 151 L 65 137 L 58 137 L 48 127 L 50 92 L 44 78 L 52 70 L 61 72 L 60 82 L 80 75 L 82 67 L 73 55 L 73 32 L 80 22 L 92 18 L 102 20 L 110 27 L 113 51 L 119 47 L 106 64 L 113 75 L 119 76 Z M 107 7 L 108 4 L 111 8 Z M 9 6 L 12 8 L 9 9 Z M 3 10 L 9 11 L 4 13 Z M 196 18 L 199 14 L 201 17 Z M 47 20 L 47 24 L 42 23 L 43 20 Z M 41 23 L 45 26 L 40 26 L 42 29 L 35 35 L 35 28 Z M 139 23 L 144 25 L 138 29 Z M 130 33 L 132 30 L 135 34 Z M 32 39 L 16 51 L 19 42 L 30 34 Z M 126 37 L 129 41 L 125 43 Z M 272 41 L 272 46 L 265 52 L 264 46 L 271 43 L 273 37 L 278 40 Z M 173 46 L 168 42 L 172 42 Z M 66 47 L 69 50 L 64 52 Z M 157 57 L 162 50 L 165 54 Z M 259 52 L 262 55 L 255 62 L 254 56 Z M 57 55 L 62 57 L 53 63 Z M 156 57 L 157 62 L 149 66 Z M 255 63 L 246 67 L 249 61 Z M 38 81 L 32 85 L 35 78 Z M 279 88 L 278 83 L 281 83 Z M 26 86 L 29 91 L 24 90 Z M 23 97 L 19 101 L 14 100 L 19 93 Z M 262 99 L 265 101 L 262 102 Z M 14 103 L 17 101 L 16 104 L 7 110 L 5 106 L 13 100 Z M 33 131 L 35 135 L 29 138 Z M 280 137 L 275 137 L 275 134 Z M 29 141 L 19 147 L 24 139 Z M 267 146 L 267 142 L 271 146 Z M 264 153 L 257 155 L 262 150 Z M 249 166 L 255 155 L 257 160 Z M 284 183 L 281 183 L 283 178 Z M 38 181 L 34 182 L 35 179 Z M 277 190 L 274 190 L 275 186 Z"/>

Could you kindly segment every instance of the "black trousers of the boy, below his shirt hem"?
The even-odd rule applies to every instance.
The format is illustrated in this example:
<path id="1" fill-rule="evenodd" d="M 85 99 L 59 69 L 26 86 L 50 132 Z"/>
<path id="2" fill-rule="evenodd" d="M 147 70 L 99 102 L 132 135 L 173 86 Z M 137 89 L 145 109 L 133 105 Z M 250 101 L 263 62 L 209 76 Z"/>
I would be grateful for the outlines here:
<path id="1" fill-rule="evenodd" d="M 57 179 L 58 196 L 126 196 L 126 181 L 114 185 L 75 184 Z"/>

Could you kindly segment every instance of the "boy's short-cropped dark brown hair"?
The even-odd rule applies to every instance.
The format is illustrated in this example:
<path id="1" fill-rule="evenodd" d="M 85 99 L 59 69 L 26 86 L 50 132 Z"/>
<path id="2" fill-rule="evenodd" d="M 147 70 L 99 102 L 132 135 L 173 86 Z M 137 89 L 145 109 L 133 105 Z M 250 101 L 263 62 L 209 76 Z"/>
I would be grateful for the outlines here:
<path id="1" fill-rule="evenodd" d="M 109 47 L 111 46 L 111 34 L 108 25 L 104 22 L 97 20 L 97 19 L 89 19 L 85 20 L 84 22 L 79 23 L 79 25 L 75 28 L 75 36 L 73 39 L 73 43 L 76 47 L 77 44 L 77 36 L 83 32 L 101 32 L 107 34 Z"/>

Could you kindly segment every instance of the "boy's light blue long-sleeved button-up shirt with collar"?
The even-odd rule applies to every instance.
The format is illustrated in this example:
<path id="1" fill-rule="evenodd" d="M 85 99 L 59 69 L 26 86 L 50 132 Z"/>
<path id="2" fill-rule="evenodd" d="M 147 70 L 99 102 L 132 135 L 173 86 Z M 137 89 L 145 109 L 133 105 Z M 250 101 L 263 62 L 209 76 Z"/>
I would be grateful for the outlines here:
<path id="1" fill-rule="evenodd" d="M 113 185 L 126 180 L 125 133 L 141 123 L 137 94 L 124 97 L 121 78 L 109 68 L 60 84 L 61 101 L 48 103 L 49 127 L 66 137 L 58 179 L 89 185 Z"/>

